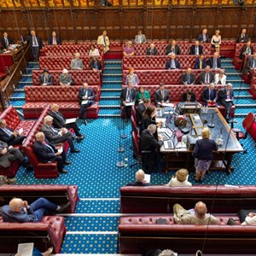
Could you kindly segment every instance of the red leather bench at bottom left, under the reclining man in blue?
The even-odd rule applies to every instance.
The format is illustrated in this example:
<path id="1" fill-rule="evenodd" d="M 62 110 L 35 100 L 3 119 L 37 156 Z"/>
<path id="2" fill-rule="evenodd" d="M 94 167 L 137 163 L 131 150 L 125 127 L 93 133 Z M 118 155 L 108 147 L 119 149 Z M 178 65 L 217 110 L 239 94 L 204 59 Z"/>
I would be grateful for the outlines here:
<path id="1" fill-rule="evenodd" d="M 1 253 L 16 253 L 19 243 L 33 242 L 41 252 L 53 247 L 61 253 L 61 243 L 66 234 L 64 218 L 44 216 L 39 223 L 8 223 L 0 218 Z"/>

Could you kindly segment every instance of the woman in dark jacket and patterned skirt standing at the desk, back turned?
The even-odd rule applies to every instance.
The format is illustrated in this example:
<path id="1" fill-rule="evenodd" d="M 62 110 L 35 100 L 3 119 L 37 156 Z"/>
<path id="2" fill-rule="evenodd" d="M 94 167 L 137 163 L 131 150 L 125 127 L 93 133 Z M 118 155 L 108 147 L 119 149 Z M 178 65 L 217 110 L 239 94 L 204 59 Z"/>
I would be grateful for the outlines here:
<path id="1" fill-rule="evenodd" d="M 213 159 L 212 150 L 217 151 L 218 146 L 214 140 L 210 139 L 211 132 L 208 128 L 201 131 L 201 140 L 197 140 L 193 156 L 195 157 L 195 182 L 201 183 L 211 166 Z"/>

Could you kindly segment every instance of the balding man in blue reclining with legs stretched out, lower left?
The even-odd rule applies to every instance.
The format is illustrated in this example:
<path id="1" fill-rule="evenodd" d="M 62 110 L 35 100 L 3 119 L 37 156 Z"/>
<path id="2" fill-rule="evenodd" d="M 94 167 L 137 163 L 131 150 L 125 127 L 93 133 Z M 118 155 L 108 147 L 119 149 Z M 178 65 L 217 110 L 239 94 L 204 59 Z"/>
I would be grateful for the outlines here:
<path id="1" fill-rule="evenodd" d="M 49 215 L 50 212 L 64 212 L 69 206 L 70 202 L 57 206 L 44 197 L 38 198 L 29 206 L 27 201 L 15 197 L 9 201 L 9 206 L 2 207 L 3 222 L 40 222 L 44 215 Z"/>

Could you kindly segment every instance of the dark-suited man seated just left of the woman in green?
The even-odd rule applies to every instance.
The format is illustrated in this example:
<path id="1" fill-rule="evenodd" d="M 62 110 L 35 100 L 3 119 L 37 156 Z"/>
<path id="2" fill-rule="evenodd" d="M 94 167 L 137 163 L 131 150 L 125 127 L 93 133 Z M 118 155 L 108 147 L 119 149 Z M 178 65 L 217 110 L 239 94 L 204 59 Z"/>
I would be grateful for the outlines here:
<path id="1" fill-rule="evenodd" d="M 121 106 L 124 108 L 125 123 L 128 121 L 128 110 L 131 109 L 132 104 L 136 101 L 137 90 L 133 87 L 131 82 L 128 82 L 127 87 L 123 88 L 120 95 Z M 130 106 L 127 106 L 129 104 Z"/>

